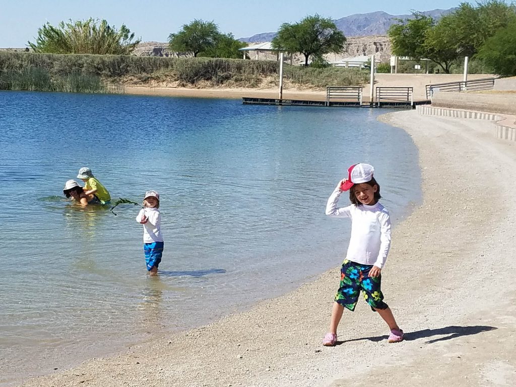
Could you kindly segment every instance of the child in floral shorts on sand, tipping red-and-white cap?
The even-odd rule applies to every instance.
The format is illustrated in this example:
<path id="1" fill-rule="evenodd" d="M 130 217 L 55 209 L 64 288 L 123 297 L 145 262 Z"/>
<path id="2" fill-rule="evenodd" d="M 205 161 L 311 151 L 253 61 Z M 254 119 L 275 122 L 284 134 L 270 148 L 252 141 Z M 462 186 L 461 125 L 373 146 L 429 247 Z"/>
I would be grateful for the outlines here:
<path id="1" fill-rule="evenodd" d="M 391 220 L 387 209 L 378 202 L 380 186 L 373 178 L 373 172 L 374 168 L 369 164 L 349 167 L 348 178 L 338 183 L 326 205 L 326 215 L 351 218 L 351 237 L 331 311 L 330 331 L 322 341 L 325 346 L 337 342 L 337 326 L 344 308 L 354 311 L 360 291 L 371 309 L 389 325 L 389 343 L 403 340 L 403 331 L 383 302 L 381 291 L 381 269 L 391 247 Z M 352 204 L 337 208 L 338 198 L 347 190 Z"/>

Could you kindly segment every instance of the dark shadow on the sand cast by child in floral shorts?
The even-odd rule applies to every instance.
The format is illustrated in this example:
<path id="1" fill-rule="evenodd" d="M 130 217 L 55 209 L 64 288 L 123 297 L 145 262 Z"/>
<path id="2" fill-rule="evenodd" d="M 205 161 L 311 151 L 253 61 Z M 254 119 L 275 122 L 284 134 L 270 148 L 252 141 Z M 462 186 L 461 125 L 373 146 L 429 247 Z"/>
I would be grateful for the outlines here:
<path id="1" fill-rule="evenodd" d="M 498 329 L 495 327 L 487 327 L 481 325 L 475 325 L 472 327 L 458 327 L 458 326 L 449 326 L 445 328 L 438 329 L 423 329 L 421 331 L 414 332 L 406 332 L 404 336 L 404 340 L 412 341 L 417 340 L 418 338 L 431 337 L 431 336 L 440 336 L 447 335 L 445 337 L 434 338 L 433 340 L 425 341 L 425 344 L 433 344 L 438 341 L 450 340 L 451 338 L 456 338 L 460 336 L 467 336 L 471 334 L 477 334 L 482 332 L 492 331 L 494 329 Z M 374 342 L 379 342 L 382 340 L 386 340 L 389 336 L 374 336 L 374 337 L 361 337 L 361 338 L 352 338 L 351 340 L 337 341 L 335 345 L 340 345 L 344 343 L 348 343 L 351 341 L 360 341 L 360 340 L 369 340 Z"/>

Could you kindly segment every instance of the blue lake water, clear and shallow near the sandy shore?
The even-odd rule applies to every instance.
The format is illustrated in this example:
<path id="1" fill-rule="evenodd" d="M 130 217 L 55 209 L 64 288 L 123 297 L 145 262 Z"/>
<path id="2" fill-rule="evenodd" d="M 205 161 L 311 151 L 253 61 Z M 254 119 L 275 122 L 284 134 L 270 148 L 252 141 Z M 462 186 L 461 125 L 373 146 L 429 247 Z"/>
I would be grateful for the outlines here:
<path id="1" fill-rule="evenodd" d="M 0 109 L 2 383 L 205 324 L 339 265 L 350 224 L 324 209 L 350 164 L 375 166 L 395 222 L 420 201 L 417 150 L 376 121 L 385 110 L 36 92 L 0 92 Z M 114 199 L 159 191 L 159 278 L 139 207 L 114 215 L 62 196 L 84 166 Z"/>

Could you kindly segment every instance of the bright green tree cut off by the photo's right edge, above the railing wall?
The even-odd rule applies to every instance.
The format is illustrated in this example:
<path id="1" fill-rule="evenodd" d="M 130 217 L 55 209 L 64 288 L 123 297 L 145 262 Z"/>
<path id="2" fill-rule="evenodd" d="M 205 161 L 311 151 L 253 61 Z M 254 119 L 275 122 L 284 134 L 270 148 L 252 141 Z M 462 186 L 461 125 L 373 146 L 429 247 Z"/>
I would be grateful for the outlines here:
<path id="1" fill-rule="evenodd" d="M 516 20 L 487 39 L 480 47 L 477 58 L 481 59 L 496 74 L 516 75 Z"/>

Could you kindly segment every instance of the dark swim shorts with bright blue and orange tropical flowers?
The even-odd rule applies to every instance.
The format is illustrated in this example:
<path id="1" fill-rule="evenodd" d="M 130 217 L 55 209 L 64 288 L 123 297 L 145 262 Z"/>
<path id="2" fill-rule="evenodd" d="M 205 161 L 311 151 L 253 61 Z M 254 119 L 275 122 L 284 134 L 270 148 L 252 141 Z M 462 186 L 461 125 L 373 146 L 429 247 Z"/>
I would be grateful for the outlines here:
<path id="1" fill-rule="evenodd" d="M 335 296 L 335 301 L 344 308 L 354 311 L 357 305 L 360 291 L 364 294 L 373 311 L 376 309 L 387 309 L 388 305 L 383 302 L 383 294 L 380 289 L 382 278 L 369 277 L 369 270 L 373 265 L 363 265 L 345 260 L 341 268 L 341 284 Z"/>

